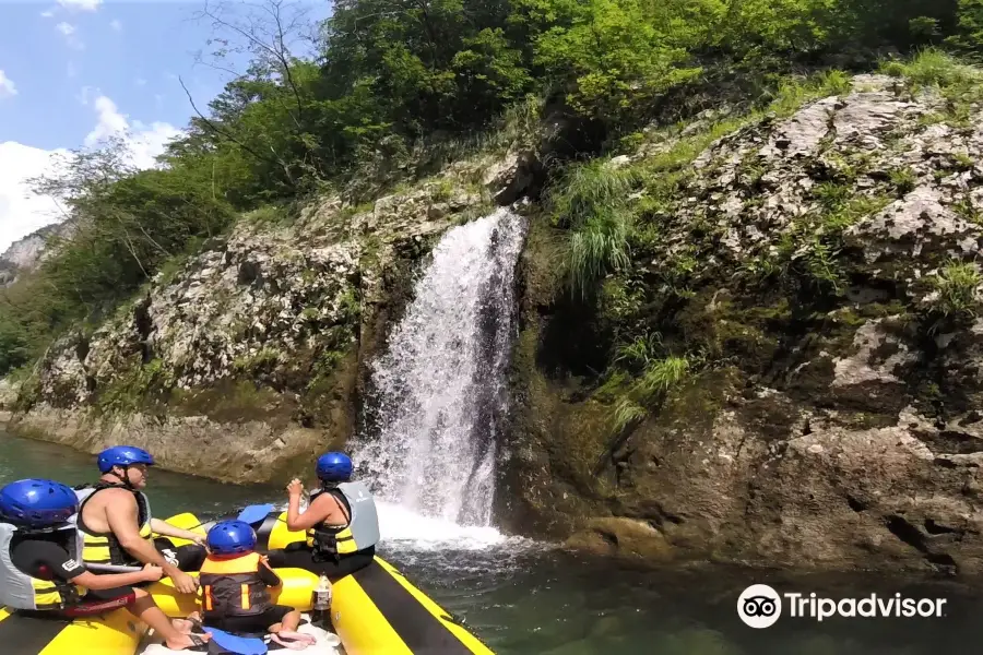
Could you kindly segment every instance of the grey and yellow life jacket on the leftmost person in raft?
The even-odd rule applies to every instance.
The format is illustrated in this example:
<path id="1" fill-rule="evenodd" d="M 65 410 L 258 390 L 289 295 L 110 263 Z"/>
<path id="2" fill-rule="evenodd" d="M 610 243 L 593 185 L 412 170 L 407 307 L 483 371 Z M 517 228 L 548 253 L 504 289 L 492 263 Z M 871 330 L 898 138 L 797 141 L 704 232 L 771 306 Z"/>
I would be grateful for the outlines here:
<path id="1" fill-rule="evenodd" d="M 17 569 L 10 557 L 10 546 L 15 536 L 29 535 L 10 523 L 0 523 L 0 606 L 14 609 L 64 609 L 78 605 L 85 588 L 57 576 L 51 580 L 33 577 Z M 75 561 L 82 560 L 82 544 L 75 526 L 68 524 L 44 533 L 54 536 Z"/>

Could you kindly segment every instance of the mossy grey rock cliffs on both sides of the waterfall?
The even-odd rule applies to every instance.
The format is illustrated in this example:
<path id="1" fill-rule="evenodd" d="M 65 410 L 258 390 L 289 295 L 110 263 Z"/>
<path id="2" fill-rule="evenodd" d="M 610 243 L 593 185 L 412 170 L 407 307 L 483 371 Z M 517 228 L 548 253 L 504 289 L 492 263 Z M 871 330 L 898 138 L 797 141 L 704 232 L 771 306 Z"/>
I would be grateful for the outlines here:
<path id="1" fill-rule="evenodd" d="M 507 528 L 656 560 L 983 569 L 981 108 L 958 85 L 833 82 L 595 165 L 631 224 L 596 288 L 570 293 L 562 203 L 528 207 Z M 56 344 L 16 425 L 224 479 L 294 471 L 351 434 L 434 239 L 528 172 L 513 154 L 247 217 Z"/>

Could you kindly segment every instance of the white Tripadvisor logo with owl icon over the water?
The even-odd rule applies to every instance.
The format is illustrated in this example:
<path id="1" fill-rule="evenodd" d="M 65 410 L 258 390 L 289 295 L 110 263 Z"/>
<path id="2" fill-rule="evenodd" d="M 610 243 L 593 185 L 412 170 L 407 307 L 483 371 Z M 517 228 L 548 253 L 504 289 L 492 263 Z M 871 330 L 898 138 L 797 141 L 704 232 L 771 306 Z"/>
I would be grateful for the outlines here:
<path id="1" fill-rule="evenodd" d="M 783 599 L 784 598 L 784 599 Z M 830 617 L 843 618 L 931 618 L 943 617 L 946 598 L 907 598 L 901 594 L 862 598 L 824 598 L 814 593 L 786 592 L 779 595 L 767 584 L 753 584 L 737 598 L 737 616 L 751 628 L 773 626 L 785 614 L 790 618 L 809 618 L 817 621 Z"/>

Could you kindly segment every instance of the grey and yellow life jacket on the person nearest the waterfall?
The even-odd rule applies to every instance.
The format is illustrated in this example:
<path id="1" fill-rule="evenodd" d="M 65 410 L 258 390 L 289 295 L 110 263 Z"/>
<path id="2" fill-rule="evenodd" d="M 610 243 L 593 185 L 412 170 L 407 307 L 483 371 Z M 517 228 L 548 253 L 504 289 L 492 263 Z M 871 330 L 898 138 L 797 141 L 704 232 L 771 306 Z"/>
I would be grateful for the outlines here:
<path id="1" fill-rule="evenodd" d="M 313 502 L 321 493 L 331 493 L 348 508 L 348 524 L 343 527 L 316 525 L 307 531 L 307 545 L 316 552 L 339 557 L 359 552 L 379 543 L 379 514 L 372 492 L 362 483 L 342 483 L 332 489 L 310 495 Z"/>

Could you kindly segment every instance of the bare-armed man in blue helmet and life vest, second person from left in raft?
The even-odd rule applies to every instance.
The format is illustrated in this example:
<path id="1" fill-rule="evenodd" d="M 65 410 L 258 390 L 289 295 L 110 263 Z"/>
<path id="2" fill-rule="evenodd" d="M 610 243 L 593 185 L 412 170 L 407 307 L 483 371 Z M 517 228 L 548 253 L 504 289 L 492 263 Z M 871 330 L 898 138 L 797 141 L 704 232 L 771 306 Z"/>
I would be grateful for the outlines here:
<path id="1" fill-rule="evenodd" d="M 151 515 L 142 489 L 146 487 L 147 467 L 153 464 L 151 454 L 135 446 L 117 445 L 99 453 L 99 481 L 75 488 L 83 559 L 86 563 L 125 567 L 154 564 L 174 581 L 175 588 L 190 594 L 198 588 L 198 580 L 183 571 L 201 567 L 208 555 L 204 538 Z M 171 549 L 169 541 L 155 543 L 153 533 L 189 539 L 194 545 Z"/>

